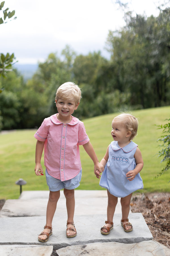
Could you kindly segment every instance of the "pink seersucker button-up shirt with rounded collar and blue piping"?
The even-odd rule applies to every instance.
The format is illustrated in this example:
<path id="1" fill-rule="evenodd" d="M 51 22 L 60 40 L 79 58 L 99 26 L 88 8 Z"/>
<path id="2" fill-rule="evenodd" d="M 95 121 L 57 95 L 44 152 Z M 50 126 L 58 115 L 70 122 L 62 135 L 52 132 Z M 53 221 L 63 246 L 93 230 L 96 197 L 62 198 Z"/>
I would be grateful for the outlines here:
<path id="1" fill-rule="evenodd" d="M 81 170 L 79 145 L 90 141 L 84 123 L 72 116 L 61 123 L 57 114 L 45 118 L 34 134 L 44 144 L 44 165 L 48 173 L 61 181 L 74 178 Z"/>

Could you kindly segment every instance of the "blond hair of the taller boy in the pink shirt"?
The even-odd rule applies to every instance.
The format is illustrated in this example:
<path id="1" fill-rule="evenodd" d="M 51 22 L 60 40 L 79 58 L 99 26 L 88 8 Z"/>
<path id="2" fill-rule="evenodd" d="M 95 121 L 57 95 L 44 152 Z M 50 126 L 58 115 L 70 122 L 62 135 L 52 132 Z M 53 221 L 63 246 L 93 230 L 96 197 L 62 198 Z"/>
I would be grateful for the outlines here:
<path id="1" fill-rule="evenodd" d="M 74 101 L 77 105 L 81 99 L 81 90 L 75 83 L 66 82 L 64 84 L 61 84 L 57 89 L 56 101 L 58 101 L 58 98 Z"/>

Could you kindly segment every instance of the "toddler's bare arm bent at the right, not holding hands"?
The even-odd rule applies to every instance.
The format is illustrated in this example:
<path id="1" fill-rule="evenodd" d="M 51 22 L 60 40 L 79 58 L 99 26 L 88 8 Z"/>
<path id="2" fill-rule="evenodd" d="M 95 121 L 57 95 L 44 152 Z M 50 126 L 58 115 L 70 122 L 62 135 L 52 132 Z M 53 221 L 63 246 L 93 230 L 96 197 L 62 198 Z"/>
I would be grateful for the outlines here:
<path id="1" fill-rule="evenodd" d="M 134 154 L 134 158 L 136 160 L 136 167 L 135 169 L 127 172 L 126 177 L 128 178 L 129 181 L 132 181 L 135 176 L 142 170 L 143 168 L 143 159 L 142 159 L 142 154 L 139 148 L 137 147 L 136 152 Z"/>

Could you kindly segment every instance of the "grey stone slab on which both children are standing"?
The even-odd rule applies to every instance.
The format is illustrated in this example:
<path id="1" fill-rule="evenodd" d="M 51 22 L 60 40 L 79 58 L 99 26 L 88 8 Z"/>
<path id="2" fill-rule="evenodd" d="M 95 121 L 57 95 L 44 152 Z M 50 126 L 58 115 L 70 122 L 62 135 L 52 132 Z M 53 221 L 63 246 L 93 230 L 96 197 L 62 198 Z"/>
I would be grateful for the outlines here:
<path id="1" fill-rule="evenodd" d="M 121 217 L 121 214 L 114 214 L 114 228 L 106 236 L 100 233 L 100 228 L 105 223 L 106 215 L 75 215 L 74 221 L 77 236 L 67 238 L 67 218 L 63 215 L 55 215 L 53 219 L 53 234 L 45 245 L 52 245 L 53 249 L 56 250 L 70 245 L 96 242 L 139 243 L 152 240 L 152 234 L 141 213 L 129 214 L 129 221 L 133 224 L 132 232 L 124 232 L 120 225 Z M 4 233 L 0 234 L 0 245 L 42 245 L 42 242 L 39 242 L 37 237 L 43 230 L 45 222 L 45 216 L 0 218 L 1 229 L 5 230 Z"/>

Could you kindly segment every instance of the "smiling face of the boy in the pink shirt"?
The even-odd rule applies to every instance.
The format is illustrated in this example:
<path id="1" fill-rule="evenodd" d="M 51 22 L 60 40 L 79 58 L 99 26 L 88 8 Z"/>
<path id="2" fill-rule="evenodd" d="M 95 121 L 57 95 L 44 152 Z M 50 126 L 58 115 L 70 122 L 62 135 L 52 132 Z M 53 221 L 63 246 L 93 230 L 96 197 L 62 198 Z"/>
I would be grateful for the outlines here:
<path id="1" fill-rule="evenodd" d="M 58 100 L 56 100 L 56 107 L 60 115 L 67 117 L 74 113 L 74 111 L 78 108 L 79 103 L 80 102 L 78 102 L 76 105 L 72 100 L 63 100 L 58 98 Z"/>

